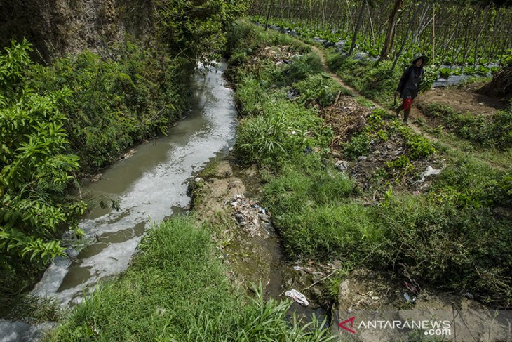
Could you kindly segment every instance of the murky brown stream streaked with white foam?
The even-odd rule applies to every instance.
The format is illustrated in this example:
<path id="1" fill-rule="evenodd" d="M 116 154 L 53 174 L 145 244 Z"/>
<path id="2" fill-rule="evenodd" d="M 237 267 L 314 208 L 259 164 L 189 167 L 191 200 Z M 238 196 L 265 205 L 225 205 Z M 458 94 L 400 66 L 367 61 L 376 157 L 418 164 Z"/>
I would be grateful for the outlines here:
<path id="1" fill-rule="evenodd" d="M 81 301 L 83 289 L 128 267 L 140 237 L 167 216 L 189 204 L 187 183 L 210 159 L 227 154 L 234 143 L 236 108 L 225 86 L 225 65 L 194 78 L 194 98 L 187 117 L 168 136 L 135 148 L 135 153 L 102 173 L 81 191 L 89 198 L 108 196 L 121 210 L 97 206 L 80 227 L 92 243 L 70 261 L 58 258 L 34 288 L 33 294 L 53 296 L 62 305 Z"/>

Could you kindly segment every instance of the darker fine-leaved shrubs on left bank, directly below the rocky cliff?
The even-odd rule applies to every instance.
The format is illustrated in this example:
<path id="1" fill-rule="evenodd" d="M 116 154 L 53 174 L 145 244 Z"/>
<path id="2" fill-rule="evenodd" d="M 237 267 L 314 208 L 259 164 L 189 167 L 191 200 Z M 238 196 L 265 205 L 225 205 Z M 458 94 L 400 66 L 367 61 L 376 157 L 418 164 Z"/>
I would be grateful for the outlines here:
<path id="1" fill-rule="evenodd" d="M 71 95 L 58 102 L 72 150 L 83 171 L 105 166 L 144 138 L 165 132 L 186 107 L 187 65 L 127 42 L 116 59 L 83 51 L 53 65 L 32 65 L 27 79 L 44 94 L 63 85 Z M 191 65 L 188 65 L 190 67 Z"/>

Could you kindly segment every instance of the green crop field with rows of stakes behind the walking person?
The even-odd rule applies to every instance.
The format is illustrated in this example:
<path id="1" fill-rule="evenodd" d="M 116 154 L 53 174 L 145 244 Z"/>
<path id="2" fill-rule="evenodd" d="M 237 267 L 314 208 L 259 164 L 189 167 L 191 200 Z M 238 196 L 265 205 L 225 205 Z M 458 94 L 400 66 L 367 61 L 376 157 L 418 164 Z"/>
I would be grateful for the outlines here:
<path id="1" fill-rule="evenodd" d="M 446 77 L 496 72 L 511 53 L 505 32 L 511 32 L 512 10 L 491 2 L 258 0 L 251 14 L 263 25 L 335 46 L 338 53 L 349 54 L 354 44 L 353 54 L 364 60 L 391 58 L 400 66 L 429 54 L 436 69 L 443 67 L 436 77 Z"/>

